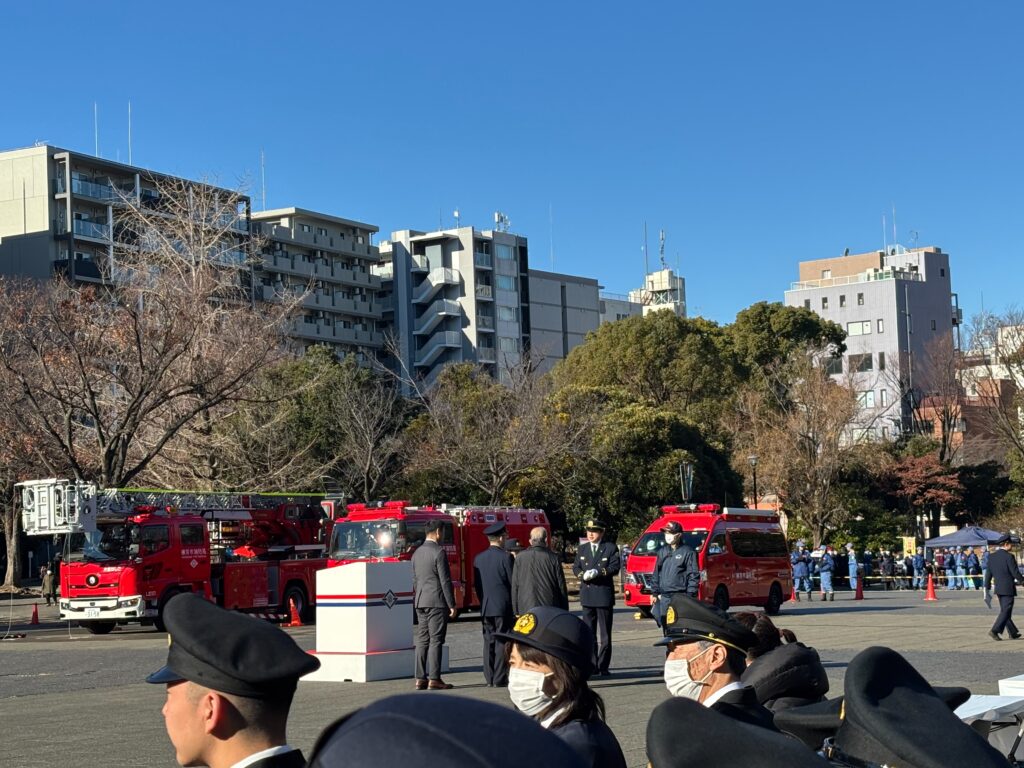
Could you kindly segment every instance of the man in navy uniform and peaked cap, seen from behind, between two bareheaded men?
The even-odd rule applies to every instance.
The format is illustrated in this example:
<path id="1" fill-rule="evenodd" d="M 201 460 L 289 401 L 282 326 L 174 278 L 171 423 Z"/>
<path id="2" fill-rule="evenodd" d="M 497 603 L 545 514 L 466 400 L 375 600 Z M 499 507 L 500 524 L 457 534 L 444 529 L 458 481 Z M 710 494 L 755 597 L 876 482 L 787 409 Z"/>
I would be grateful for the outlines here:
<path id="1" fill-rule="evenodd" d="M 473 558 L 473 588 L 480 599 L 480 623 L 483 629 L 483 679 L 487 687 L 504 688 L 509 684 L 509 666 L 505 641 L 498 632 L 512 631 L 512 563 L 505 551 L 505 523 L 496 522 L 483 529 L 490 543 Z"/>

